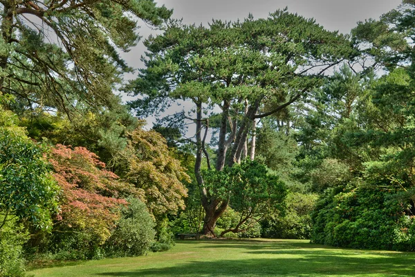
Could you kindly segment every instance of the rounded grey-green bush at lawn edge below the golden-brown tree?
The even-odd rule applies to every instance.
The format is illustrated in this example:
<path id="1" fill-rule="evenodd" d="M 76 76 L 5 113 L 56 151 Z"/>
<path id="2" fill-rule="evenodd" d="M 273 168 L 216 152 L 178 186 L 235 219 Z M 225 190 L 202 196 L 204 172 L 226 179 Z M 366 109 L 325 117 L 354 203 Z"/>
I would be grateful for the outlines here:
<path id="1" fill-rule="evenodd" d="M 155 224 L 145 204 L 135 198 L 127 201 L 129 205 L 122 208 L 122 218 L 105 245 L 109 256 L 140 256 L 154 242 Z"/>

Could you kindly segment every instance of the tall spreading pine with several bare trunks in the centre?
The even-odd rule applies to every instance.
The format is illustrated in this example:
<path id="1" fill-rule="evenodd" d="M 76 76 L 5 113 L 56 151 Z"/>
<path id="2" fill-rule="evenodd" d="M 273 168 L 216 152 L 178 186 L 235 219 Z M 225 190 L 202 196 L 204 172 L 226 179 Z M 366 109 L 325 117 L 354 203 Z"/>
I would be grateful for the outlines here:
<path id="1" fill-rule="evenodd" d="M 244 21 L 214 20 L 209 27 L 173 20 L 163 35 L 150 37 L 145 45 L 147 68 L 129 87 L 143 97 L 132 104 L 139 115 L 163 111 L 176 100 L 194 104 L 193 113 L 183 111 L 174 120 L 196 124 L 194 171 L 206 213 L 204 233 L 214 229 L 230 199 L 206 189 L 203 155 L 208 168 L 217 171 L 239 163 L 254 120 L 306 97 L 328 69 L 354 53 L 347 37 L 287 10 L 267 19 L 250 15 Z M 212 126 L 217 151 L 211 165 L 205 144 L 210 122 L 216 123 L 216 118 L 218 123 Z"/>

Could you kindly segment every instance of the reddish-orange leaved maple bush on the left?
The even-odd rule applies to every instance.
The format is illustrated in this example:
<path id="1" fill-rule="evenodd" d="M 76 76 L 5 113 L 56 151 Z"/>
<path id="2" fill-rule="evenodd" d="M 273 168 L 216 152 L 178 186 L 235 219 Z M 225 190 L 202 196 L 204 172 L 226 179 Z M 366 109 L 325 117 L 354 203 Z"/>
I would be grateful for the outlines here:
<path id="1" fill-rule="evenodd" d="M 118 206 L 127 204 L 120 199 L 120 195 L 128 187 L 118 181 L 117 175 L 106 170 L 105 163 L 86 148 L 71 149 L 56 145 L 52 154 L 53 177 L 62 188 L 60 211 L 54 229 L 56 235 L 84 233 L 80 240 L 91 238 L 99 240 L 98 244 L 104 243 L 120 218 Z M 86 245 L 91 243 L 86 242 Z"/>

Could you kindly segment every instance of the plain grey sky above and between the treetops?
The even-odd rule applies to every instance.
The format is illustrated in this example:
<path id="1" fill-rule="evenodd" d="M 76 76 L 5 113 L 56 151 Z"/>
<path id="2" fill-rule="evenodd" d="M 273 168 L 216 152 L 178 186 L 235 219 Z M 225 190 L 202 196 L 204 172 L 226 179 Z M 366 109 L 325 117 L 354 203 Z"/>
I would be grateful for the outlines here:
<path id="1" fill-rule="evenodd" d="M 297 12 L 306 18 L 314 18 L 317 24 L 327 30 L 338 30 L 340 33 L 350 33 L 358 21 L 378 19 L 380 15 L 392 10 L 402 0 L 156 0 L 158 6 L 165 5 L 173 9 L 173 18 L 183 19 L 184 24 L 207 25 L 212 19 L 235 21 L 244 19 L 252 13 L 254 18 L 268 17 L 270 12 L 288 7 L 289 12 Z M 142 23 L 140 35 L 144 40 L 150 34 L 156 35 L 155 30 Z M 122 53 L 122 57 L 129 66 L 135 69 L 143 67 L 140 61 L 145 52 L 145 46 L 140 42 L 129 53 Z M 131 79 L 135 74 L 126 75 Z M 134 99 L 122 95 L 124 101 Z M 186 104 L 186 103 L 185 103 Z M 172 111 L 184 107 L 172 107 Z M 151 127 L 156 118 L 147 118 L 147 127 Z"/>

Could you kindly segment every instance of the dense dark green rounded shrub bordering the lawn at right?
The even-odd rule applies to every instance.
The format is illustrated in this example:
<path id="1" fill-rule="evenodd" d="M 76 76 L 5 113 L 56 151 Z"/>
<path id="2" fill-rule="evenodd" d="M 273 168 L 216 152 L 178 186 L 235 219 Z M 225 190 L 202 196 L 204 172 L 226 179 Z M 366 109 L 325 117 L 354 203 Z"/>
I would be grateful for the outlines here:
<path id="1" fill-rule="evenodd" d="M 414 220 L 390 189 L 327 190 L 312 215 L 312 241 L 336 247 L 412 251 Z"/>

